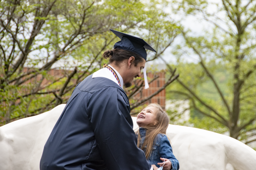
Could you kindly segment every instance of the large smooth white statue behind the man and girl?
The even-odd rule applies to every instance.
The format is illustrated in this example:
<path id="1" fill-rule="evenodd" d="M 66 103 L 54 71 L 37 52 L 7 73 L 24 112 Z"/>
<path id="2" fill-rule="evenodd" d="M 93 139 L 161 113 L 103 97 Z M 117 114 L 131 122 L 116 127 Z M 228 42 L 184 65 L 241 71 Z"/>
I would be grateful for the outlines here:
<path id="1" fill-rule="evenodd" d="M 0 170 L 39 170 L 44 144 L 66 105 L 0 127 Z M 133 118 L 134 129 L 137 128 Z M 169 125 L 180 170 L 255 170 L 256 151 L 218 133 Z"/>

